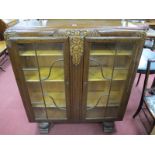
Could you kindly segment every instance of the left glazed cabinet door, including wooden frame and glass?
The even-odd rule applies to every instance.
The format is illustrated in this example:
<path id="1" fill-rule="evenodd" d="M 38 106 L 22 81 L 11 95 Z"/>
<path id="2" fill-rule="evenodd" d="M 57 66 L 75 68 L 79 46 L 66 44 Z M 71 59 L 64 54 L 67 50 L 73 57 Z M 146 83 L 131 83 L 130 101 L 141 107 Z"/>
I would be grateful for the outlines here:
<path id="1" fill-rule="evenodd" d="M 70 119 L 67 38 L 14 40 L 23 87 L 34 120 Z M 18 82 L 18 81 L 17 81 Z"/>

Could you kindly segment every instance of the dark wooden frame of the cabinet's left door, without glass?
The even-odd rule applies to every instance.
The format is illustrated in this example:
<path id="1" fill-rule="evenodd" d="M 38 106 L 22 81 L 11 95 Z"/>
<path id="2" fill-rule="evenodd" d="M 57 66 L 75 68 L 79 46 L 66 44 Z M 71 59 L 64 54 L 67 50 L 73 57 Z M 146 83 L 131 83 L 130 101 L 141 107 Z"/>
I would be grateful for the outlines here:
<path id="1" fill-rule="evenodd" d="M 65 76 L 65 96 L 66 96 L 66 113 L 67 120 L 71 119 L 71 102 L 70 102 L 70 67 L 69 67 L 69 41 L 68 37 L 10 37 L 7 40 L 8 51 L 15 74 L 18 89 L 22 97 L 23 105 L 30 122 L 36 122 L 33 108 L 31 106 L 30 96 L 25 82 L 24 73 L 21 67 L 21 59 L 18 51 L 18 44 L 22 43 L 63 43 L 64 44 L 64 76 Z M 48 121 L 48 120 L 47 120 Z M 58 120 L 59 121 L 59 120 Z"/>

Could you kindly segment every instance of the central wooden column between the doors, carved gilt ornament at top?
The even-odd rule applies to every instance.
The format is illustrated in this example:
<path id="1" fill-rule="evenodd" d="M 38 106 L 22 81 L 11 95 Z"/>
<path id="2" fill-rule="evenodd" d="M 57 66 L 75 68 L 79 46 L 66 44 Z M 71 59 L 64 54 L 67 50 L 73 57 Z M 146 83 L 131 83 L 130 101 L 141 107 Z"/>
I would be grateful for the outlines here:
<path id="1" fill-rule="evenodd" d="M 71 115 L 72 121 L 80 121 L 80 105 L 82 102 L 83 52 L 84 37 L 70 36 L 70 70 L 71 70 Z"/>

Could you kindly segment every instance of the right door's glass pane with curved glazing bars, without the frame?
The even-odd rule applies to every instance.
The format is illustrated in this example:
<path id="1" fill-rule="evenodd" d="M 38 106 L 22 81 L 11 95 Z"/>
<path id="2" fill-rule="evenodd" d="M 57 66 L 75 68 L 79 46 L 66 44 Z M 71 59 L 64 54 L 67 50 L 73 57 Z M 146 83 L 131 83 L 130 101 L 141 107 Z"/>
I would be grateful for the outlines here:
<path id="1" fill-rule="evenodd" d="M 130 42 L 92 43 L 86 119 L 116 118 L 133 54 Z"/>

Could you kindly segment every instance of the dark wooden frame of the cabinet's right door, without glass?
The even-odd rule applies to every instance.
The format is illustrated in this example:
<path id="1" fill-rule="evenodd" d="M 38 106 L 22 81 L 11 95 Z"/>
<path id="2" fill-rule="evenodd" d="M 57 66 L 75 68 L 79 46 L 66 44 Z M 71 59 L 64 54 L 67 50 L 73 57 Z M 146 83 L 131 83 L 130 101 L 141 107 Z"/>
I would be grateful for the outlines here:
<path id="1" fill-rule="evenodd" d="M 106 41 L 110 41 L 110 42 L 118 42 L 118 41 L 128 41 L 128 40 L 132 40 L 135 41 L 135 50 L 133 51 L 133 55 L 132 58 L 133 59 L 133 63 L 132 65 L 129 66 L 129 71 L 131 71 L 132 74 L 127 75 L 127 79 L 126 79 L 126 83 L 125 83 L 125 88 L 124 90 L 127 90 L 127 92 L 124 91 L 123 93 L 123 97 L 121 99 L 121 103 L 120 106 L 118 108 L 118 118 L 114 118 L 114 120 L 122 120 L 124 113 L 125 113 L 125 109 L 127 106 L 127 102 L 130 96 L 130 92 L 131 92 L 131 86 L 135 77 L 135 73 L 136 73 L 136 68 L 137 68 L 137 62 L 139 62 L 140 59 L 140 55 L 141 52 L 139 52 L 140 50 L 142 50 L 142 45 L 144 42 L 144 37 L 141 36 L 103 36 L 103 37 L 85 37 L 85 41 L 84 41 L 84 47 L 85 47 L 85 54 L 84 54 L 84 71 L 83 71 L 83 96 L 82 96 L 82 103 L 81 103 L 81 107 L 82 107 L 82 111 L 81 111 L 81 119 L 84 121 L 86 120 L 86 104 L 87 104 L 87 87 L 88 87 L 88 70 L 89 70 L 89 56 L 90 56 L 90 46 L 91 43 L 93 42 L 103 42 L 106 43 Z M 135 64 L 136 63 L 136 64 Z M 130 82 L 127 82 L 128 80 L 130 80 Z"/>

